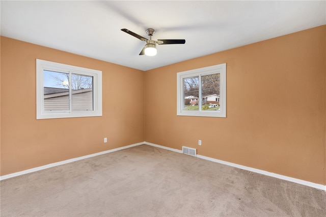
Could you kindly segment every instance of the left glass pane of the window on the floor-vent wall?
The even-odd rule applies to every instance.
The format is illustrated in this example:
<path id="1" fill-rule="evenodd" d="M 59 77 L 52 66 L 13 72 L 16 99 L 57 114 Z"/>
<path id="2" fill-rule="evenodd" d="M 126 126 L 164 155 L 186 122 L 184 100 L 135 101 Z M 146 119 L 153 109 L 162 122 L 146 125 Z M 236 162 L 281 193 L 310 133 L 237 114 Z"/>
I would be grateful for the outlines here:
<path id="1" fill-rule="evenodd" d="M 183 110 L 199 110 L 199 77 L 183 78 Z"/>

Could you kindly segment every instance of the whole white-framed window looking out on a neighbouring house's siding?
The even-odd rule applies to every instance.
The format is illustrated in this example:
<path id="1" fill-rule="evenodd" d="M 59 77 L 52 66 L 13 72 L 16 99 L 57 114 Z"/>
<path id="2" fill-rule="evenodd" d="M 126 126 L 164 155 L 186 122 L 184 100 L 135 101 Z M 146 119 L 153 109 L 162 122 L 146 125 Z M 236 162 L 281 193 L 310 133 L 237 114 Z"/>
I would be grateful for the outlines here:
<path id="1" fill-rule="evenodd" d="M 102 72 L 36 60 L 36 119 L 102 116 Z"/>

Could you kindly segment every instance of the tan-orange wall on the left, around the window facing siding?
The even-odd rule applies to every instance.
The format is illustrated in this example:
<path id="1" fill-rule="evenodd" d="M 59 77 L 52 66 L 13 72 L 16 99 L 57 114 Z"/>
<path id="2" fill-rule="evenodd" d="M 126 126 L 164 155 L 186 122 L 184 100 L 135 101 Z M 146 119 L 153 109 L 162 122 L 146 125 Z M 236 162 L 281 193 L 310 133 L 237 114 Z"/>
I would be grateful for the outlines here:
<path id="1" fill-rule="evenodd" d="M 101 70 L 103 116 L 36 120 L 36 59 Z M 143 83 L 140 70 L 1 37 L 1 175 L 143 142 Z"/>

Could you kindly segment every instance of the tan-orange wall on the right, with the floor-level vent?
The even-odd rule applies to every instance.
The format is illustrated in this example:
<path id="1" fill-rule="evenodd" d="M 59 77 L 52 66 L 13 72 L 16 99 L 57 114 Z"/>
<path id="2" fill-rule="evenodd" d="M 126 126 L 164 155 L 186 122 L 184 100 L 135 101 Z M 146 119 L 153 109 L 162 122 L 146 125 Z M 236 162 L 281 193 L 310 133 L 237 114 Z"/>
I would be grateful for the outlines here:
<path id="1" fill-rule="evenodd" d="M 326 184 L 325 35 L 323 25 L 145 72 L 145 141 Z M 177 116 L 176 73 L 221 63 L 227 118 Z"/>

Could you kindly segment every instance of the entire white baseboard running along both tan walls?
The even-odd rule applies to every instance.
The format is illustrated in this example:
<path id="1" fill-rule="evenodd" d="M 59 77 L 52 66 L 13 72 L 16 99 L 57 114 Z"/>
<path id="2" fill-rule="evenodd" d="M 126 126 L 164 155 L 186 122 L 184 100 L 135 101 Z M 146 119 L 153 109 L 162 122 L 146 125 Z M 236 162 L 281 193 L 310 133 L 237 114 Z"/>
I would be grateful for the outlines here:
<path id="1" fill-rule="evenodd" d="M 182 153 L 182 150 L 157 145 L 157 144 L 154 144 L 154 143 L 149 143 L 149 142 L 135 143 L 135 144 L 123 146 L 123 147 L 120 147 L 120 148 L 115 148 L 115 149 L 111 149 L 111 150 L 107 150 L 107 151 L 102 151 L 102 152 L 98 152 L 98 153 L 94 153 L 94 154 L 89 154 L 89 155 L 85 155 L 85 156 L 81 156 L 81 157 L 76 157 L 76 158 L 72 158 L 72 159 L 68 159 L 68 160 L 63 160 L 63 161 L 60 161 L 60 162 L 55 162 L 53 164 L 48 164 L 48 165 L 44 165 L 44 166 L 41 166 L 41 167 L 36 167 L 36 168 L 29 169 L 29 170 L 24 170 L 24 171 L 20 171 L 20 172 L 17 172 L 17 173 L 11 173 L 11 174 L 8 174 L 8 175 L 0 176 L 0 180 L 4 180 L 4 179 L 8 179 L 8 178 L 15 177 L 15 176 L 20 176 L 20 175 L 36 172 L 36 171 L 39 171 L 39 170 L 44 170 L 44 169 L 51 168 L 51 167 L 56 167 L 56 166 L 68 164 L 70 162 L 74 162 L 74 161 L 77 161 L 77 160 L 82 160 L 82 159 L 86 159 L 86 158 L 89 158 L 89 157 L 95 157 L 95 156 L 98 156 L 98 155 L 101 155 L 101 154 L 107 154 L 107 153 L 119 151 L 119 150 L 122 150 L 122 149 L 130 148 L 130 147 L 143 145 L 143 144 L 154 146 L 154 147 L 157 147 L 157 148 L 166 149 L 166 150 L 169 150 L 169 151 Z M 286 181 L 291 181 L 291 182 L 307 185 L 307 186 L 310 186 L 310 187 L 314 187 L 314 188 L 318 188 L 318 189 L 322 189 L 323 191 L 326 191 L 326 185 L 317 184 L 317 183 L 313 183 L 313 182 L 309 182 L 309 181 L 305 181 L 305 180 L 301 180 L 301 179 L 296 179 L 296 178 L 292 178 L 292 177 L 288 177 L 288 176 L 283 176 L 283 175 L 280 175 L 280 174 L 271 173 L 271 172 L 267 172 L 267 171 L 264 171 L 264 170 L 259 170 L 259 169 L 255 169 L 255 168 L 251 168 L 251 167 L 238 165 L 238 164 L 233 164 L 233 163 L 228 162 L 228 161 L 219 160 L 219 159 L 215 159 L 215 158 L 211 158 L 211 157 L 206 157 L 206 156 L 199 155 L 199 154 L 197 154 L 197 157 L 202 158 L 202 159 L 206 159 L 206 160 L 210 160 L 210 161 L 213 161 L 213 162 L 217 162 L 219 164 L 228 165 L 228 166 L 239 168 L 239 169 L 242 169 L 242 170 L 247 170 L 247 171 L 259 173 L 259 174 L 263 174 L 263 175 L 266 175 L 266 176 L 271 176 L 271 177 L 275 177 L 275 178 L 278 178 L 278 179 L 283 179 L 283 180 L 286 180 Z"/>

